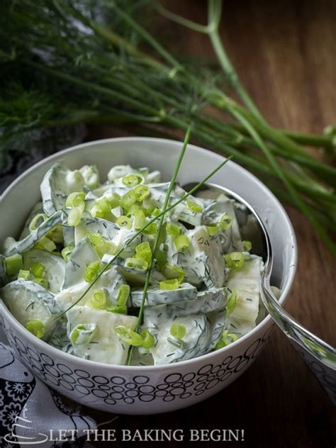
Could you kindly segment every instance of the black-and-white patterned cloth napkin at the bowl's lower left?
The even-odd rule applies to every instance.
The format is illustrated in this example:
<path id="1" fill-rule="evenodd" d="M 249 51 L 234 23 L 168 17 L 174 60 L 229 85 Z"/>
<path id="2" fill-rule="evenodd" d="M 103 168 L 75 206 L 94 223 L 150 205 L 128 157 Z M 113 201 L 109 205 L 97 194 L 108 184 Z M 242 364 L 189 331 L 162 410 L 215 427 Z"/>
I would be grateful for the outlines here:
<path id="1" fill-rule="evenodd" d="M 83 415 L 80 407 L 65 404 L 6 343 L 0 326 L 0 448 L 91 446 L 86 437 L 79 437 L 96 429 L 96 422 Z M 57 437 L 68 437 L 69 442 L 56 442 Z"/>

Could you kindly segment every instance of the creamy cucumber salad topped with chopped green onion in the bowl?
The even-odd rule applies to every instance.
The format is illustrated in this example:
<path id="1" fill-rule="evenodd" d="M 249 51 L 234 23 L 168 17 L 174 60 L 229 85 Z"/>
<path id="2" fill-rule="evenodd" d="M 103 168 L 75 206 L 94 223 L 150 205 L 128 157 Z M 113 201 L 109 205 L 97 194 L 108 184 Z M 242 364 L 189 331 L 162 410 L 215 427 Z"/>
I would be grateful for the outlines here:
<path id="1" fill-rule="evenodd" d="M 159 232 L 168 188 L 147 168 L 118 165 L 101 182 L 95 166 L 55 163 L 21 236 L 4 241 L 10 312 L 53 347 L 119 365 L 191 359 L 249 332 L 264 317 L 264 265 L 242 240 L 244 206 L 189 196 Z M 169 206 L 185 194 L 175 184 Z"/>

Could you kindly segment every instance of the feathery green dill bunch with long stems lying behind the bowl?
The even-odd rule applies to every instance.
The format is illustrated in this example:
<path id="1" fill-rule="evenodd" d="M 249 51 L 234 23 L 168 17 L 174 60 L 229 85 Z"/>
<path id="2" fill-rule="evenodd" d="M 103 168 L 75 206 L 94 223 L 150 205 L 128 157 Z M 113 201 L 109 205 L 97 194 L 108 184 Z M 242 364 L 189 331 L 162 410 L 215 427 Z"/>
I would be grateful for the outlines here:
<path id="1" fill-rule="evenodd" d="M 38 130 L 108 123 L 141 135 L 171 136 L 193 123 L 198 144 L 234 156 L 257 174 L 307 216 L 336 254 L 330 237 L 336 169 L 307 150 L 322 148 L 325 157 L 333 157 L 336 130 L 290 133 L 267 123 L 225 52 L 218 33 L 221 6 L 220 0 L 208 0 L 208 25 L 201 26 L 157 2 L 152 7 L 127 0 L 2 1 L 0 168 L 9 150 L 19 142 L 24 150 Z M 177 60 L 139 19 L 156 14 L 209 38 L 220 70 Z M 228 96 L 223 81 L 242 103 Z"/>

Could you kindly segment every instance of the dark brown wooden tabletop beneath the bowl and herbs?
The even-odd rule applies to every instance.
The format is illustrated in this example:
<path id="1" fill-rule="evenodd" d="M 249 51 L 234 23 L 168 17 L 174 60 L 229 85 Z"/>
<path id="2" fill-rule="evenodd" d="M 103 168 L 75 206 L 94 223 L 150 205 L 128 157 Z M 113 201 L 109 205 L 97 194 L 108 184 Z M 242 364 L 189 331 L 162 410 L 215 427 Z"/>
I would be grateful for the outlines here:
<path id="1" fill-rule="evenodd" d="M 206 20 L 206 1 L 169 0 L 167 6 L 194 21 Z M 272 125 L 320 132 L 336 122 L 336 2 L 226 1 L 221 34 L 242 82 Z M 169 27 L 169 28 L 165 28 Z M 177 54 L 214 60 L 206 36 L 169 22 Z M 176 42 L 176 44 L 175 44 Z M 95 138 L 118 130 L 91 130 Z M 298 272 L 287 310 L 335 347 L 336 262 L 300 213 L 286 207 L 298 240 Z M 110 414 L 88 410 L 98 422 Z M 120 415 L 117 429 L 244 429 L 244 447 L 335 447 L 336 413 L 325 392 L 276 328 L 256 362 L 237 381 L 203 403 L 175 413 Z M 190 443 L 190 442 L 189 442 Z M 198 442 L 194 442 L 194 444 Z M 202 442 L 203 447 L 224 442 Z M 230 444 L 230 442 L 227 442 Z M 118 447 L 121 442 L 113 442 Z M 123 443 L 125 444 L 125 442 Z M 132 442 L 132 447 L 156 442 Z M 97 447 L 106 443 L 97 443 Z M 181 442 L 160 442 L 179 447 Z"/>

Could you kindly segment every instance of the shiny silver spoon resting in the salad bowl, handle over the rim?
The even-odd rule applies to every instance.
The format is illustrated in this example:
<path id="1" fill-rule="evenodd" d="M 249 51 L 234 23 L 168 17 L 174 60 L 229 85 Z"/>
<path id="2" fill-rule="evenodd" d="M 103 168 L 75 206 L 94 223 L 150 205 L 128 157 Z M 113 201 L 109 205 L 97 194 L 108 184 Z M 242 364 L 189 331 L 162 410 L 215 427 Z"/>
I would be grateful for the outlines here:
<path id="1" fill-rule="evenodd" d="M 196 184 L 196 182 L 191 182 L 184 185 L 183 189 L 189 191 Z M 248 237 L 245 235 L 245 237 L 252 242 L 253 253 L 259 255 L 264 260 L 264 271 L 260 281 L 262 302 L 276 325 L 289 338 L 303 361 L 306 362 L 323 388 L 325 388 L 332 403 L 336 405 L 336 349 L 306 330 L 276 300 L 270 283 L 273 266 L 271 240 L 254 208 L 239 195 L 233 193 L 233 191 L 215 184 L 204 184 L 194 196 L 217 198 L 219 194 L 225 194 L 228 198 L 234 199 L 237 203 L 242 203 L 247 208 L 245 214 L 250 215 L 250 221 L 252 220 L 254 225 L 252 226 L 252 235 L 248 235 Z"/>

